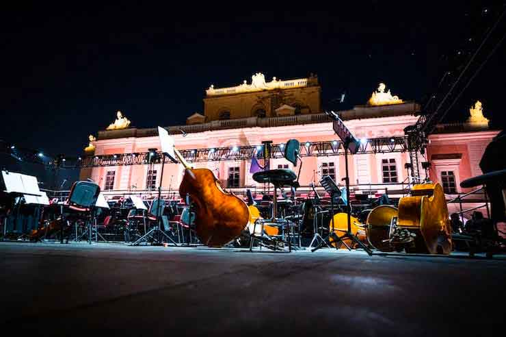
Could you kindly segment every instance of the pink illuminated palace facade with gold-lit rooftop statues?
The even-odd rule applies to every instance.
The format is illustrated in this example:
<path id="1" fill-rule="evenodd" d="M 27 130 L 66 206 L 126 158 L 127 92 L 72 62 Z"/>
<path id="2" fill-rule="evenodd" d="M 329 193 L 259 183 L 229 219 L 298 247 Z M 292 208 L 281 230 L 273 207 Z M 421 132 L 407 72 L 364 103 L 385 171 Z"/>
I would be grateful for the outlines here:
<path id="1" fill-rule="evenodd" d="M 166 127 L 180 150 L 230 148 L 261 145 L 271 141 L 282 145 L 295 138 L 302 145 L 316 142 L 338 144 L 332 121 L 321 108 L 321 86 L 318 78 L 280 80 L 273 77 L 267 82 L 261 73 L 252 76 L 251 83 L 228 88 L 210 86 L 204 98 L 203 114 L 187 118 L 186 125 Z M 367 100 L 364 93 L 364 101 Z M 386 91 L 380 84 L 364 105 L 340 112 L 351 132 L 362 140 L 405 136 L 404 128 L 416 123 L 420 105 L 403 101 Z M 470 109 L 466 123 L 438 125 L 429 136 L 425 153 L 418 153 L 419 162 L 430 162 L 429 179 L 442 182 L 451 197 L 466 192 L 460 182 L 481 174 L 479 161 L 485 147 L 498 134 L 490 130 L 483 116 L 481 103 Z M 466 112 L 468 114 L 468 112 Z M 160 149 L 157 125 L 151 129 L 130 126 L 128 119 L 118 112 L 116 122 L 99 131 L 95 139 L 90 136 L 88 155 L 114 155 L 145 153 Z M 394 139 L 392 138 L 392 142 Z M 364 141 L 364 146 L 371 146 Z M 384 148 L 383 148 L 384 149 Z M 338 154 L 336 155 L 336 152 Z M 382 153 L 383 152 L 383 153 Z M 305 156 L 299 177 L 299 192 L 308 192 L 310 182 L 318 185 L 322 175 L 331 175 L 343 184 L 345 161 L 342 151 L 328 151 L 327 155 Z M 218 158 L 219 159 L 219 158 Z M 263 161 L 259 161 L 263 164 Z M 410 162 L 408 151 L 380 151 L 361 153 L 349 157 L 350 184 L 356 193 L 374 195 L 388 188 L 392 197 L 401 197 L 410 182 L 405 164 Z M 241 160 L 196 161 L 194 167 L 209 168 L 224 186 L 243 192 L 250 188 L 254 193 L 265 191 L 266 186 L 252 179 L 250 158 Z M 283 158 L 269 160 L 270 168 L 291 168 Z M 175 192 L 183 177 L 183 166 L 165 163 L 163 192 Z M 421 168 L 421 177 L 425 178 Z M 137 164 L 84 168 L 81 179 L 91 177 L 106 196 L 128 193 L 155 195 L 160 184 L 161 164 Z M 295 169 L 298 173 L 298 167 Z"/>

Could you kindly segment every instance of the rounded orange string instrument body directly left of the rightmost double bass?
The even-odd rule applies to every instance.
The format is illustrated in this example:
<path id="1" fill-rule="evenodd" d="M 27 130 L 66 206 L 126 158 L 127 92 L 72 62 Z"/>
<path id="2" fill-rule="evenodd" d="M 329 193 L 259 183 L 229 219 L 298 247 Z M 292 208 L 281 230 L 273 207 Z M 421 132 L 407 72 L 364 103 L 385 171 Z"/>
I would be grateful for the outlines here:
<path id="1" fill-rule="evenodd" d="M 390 238 L 390 223 L 392 218 L 399 214 L 399 210 L 394 206 L 380 205 L 373 208 L 367 216 L 367 240 L 373 248 L 379 251 L 393 251 L 393 247 L 388 245 Z"/>

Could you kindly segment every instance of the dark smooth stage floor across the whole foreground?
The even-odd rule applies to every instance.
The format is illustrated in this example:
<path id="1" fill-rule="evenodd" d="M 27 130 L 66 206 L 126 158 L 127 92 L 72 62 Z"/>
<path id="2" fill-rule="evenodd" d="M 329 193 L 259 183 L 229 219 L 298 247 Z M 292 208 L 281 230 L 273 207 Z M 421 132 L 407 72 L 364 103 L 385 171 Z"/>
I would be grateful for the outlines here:
<path id="1" fill-rule="evenodd" d="M 0 321 L 20 336 L 483 336 L 505 327 L 504 255 L 0 242 L 0 259 Z"/>

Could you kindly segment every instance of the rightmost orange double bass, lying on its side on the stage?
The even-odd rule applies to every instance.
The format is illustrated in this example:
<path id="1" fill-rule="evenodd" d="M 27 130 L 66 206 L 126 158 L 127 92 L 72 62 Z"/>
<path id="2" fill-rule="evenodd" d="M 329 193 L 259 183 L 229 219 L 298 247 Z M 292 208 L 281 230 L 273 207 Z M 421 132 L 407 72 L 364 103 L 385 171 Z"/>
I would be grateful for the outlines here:
<path id="1" fill-rule="evenodd" d="M 451 253 L 451 227 L 441 184 L 413 186 L 411 196 L 399 200 L 397 227 L 416 235 L 410 253 Z"/>

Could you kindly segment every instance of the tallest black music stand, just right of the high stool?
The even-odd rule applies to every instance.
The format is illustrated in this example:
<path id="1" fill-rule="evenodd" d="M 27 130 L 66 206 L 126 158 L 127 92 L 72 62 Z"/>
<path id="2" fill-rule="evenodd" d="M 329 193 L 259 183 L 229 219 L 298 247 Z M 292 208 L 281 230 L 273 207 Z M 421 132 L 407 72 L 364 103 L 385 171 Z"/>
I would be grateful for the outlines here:
<path id="1" fill-rule="evenodd" d="M 343 241 L 343 238 L 349 238 L 349 240 L 351 240 L 351 242 L 355 242 L 359 247 L 364 249 L 364 251 L 367 251 L 367 253 L 369 255 L 373 255 L 373 252 L 371 251 L 371 249 L 369 249 L 366 245 L 364 245 L 364 243 L 362 243 L 362 241 L 358 240 L 358 238 L 353 233 L 351 233 L 351 214 L 350 214 L 351 202 L 349 200 L 348 151 L 351 154 L 357 153 L 357 151 L 360 147 L 360 142 L 351 134 L 349 129 L 346 127 L 346 125 L 343 123 L 343 121 L 341 121 L 341 118 L 339 118 L 339 116 L 336 113 L 334 113 L 334 112 L 325 112 L 325 113 L 334 119 L 334 123 L 332 123 L 332 128 L 334 129 L 334 132 L 336 132 L 336 134 L 339 136 L 339 138 L 341 138 L 341 140 L 343 141 L 343 147 L 345 149 L 346 177 L 343 178 L 343 180 L 346 182 L 346 200 L 347 200 L 346 214 L 347 214 L 348 228 L 347 228 L 346 233 L 343 234 L 342 236 L 339 236 L 337 239 L 338 239 L 338 241 L 345 243 Z M 332 219 L 333 219 L 333 217 L 332 217 Z M 349 250 L 351 250 L 351 248 L 348 245 L 345 245 L 345 246 Z M 313 249 L 312 251 L 315 251 L 318 248 L 319 247 Z"/>

